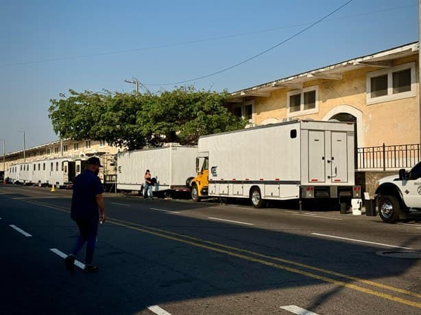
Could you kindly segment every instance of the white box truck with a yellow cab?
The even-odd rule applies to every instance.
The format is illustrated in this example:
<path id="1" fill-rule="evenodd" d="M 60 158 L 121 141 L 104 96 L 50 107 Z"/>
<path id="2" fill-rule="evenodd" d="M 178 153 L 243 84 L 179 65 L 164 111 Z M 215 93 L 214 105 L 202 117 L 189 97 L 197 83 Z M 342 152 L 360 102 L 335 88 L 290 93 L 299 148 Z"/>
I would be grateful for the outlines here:
<path id="1" fill-rule="evenodd" d="M 360 198 L 354 183 L 354 125 L 291 121 L 202 136 L 193 201 Z M 200 161 L 202 160 L 202 162 Z"/>

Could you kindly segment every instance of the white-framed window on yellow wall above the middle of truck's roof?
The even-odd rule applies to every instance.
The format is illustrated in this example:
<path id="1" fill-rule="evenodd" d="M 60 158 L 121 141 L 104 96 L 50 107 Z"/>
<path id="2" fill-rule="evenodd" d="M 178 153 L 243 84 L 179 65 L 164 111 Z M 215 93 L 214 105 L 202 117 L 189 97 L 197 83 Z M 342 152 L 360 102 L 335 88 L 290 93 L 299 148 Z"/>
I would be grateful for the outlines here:
<path id="1" fill-rule="evenodd" d="M 303 90 L 295 90 L 287 93 L 288 116 L 300 116 L 314 114 L 318 111 L 317 106 L 318 88 L 311 86 Z"/>

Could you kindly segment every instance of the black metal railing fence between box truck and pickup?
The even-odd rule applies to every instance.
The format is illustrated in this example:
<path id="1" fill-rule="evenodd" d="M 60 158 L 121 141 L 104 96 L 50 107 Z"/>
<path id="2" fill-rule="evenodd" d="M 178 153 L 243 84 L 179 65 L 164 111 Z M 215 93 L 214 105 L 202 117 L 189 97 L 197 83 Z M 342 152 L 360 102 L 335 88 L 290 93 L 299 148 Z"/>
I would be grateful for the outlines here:
<path id="1" fill-rule="evenodd" d="M 421 161 L 421 144 L 398 144 L 357 149 L 357 168 L 359 170 L 390 170 L 411 168 Z"/>

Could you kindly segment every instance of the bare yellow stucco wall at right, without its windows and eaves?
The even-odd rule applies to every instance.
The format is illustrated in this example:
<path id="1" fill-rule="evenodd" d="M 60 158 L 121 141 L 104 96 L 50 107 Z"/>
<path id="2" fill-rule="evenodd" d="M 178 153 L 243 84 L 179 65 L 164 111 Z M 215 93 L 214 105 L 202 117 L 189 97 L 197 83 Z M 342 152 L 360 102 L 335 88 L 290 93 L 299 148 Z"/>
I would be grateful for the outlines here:
<path id="1" fill-rule="evenodd" d="M 358 147 L 374 147 L 392 144 L 420 143 L 420 101 L 418 90 L 418 55 L 393 61 L 393 66 L 415 62 L 416 96 L 382 103 L 367 103 L 367 73 L 379 68 L 365 68 L 344 73 L 342 79 L 316 79 L 303 88 L 317 86 L 318 112 L 291 118 L 327 120 L 346 112 L 357 117 Z M 276 118 L 282 121 L 287 116 L 287 93 L 292 89 L 280 88 L 270 97 L 254 98 L 253 123 L 262 124 Z"/>

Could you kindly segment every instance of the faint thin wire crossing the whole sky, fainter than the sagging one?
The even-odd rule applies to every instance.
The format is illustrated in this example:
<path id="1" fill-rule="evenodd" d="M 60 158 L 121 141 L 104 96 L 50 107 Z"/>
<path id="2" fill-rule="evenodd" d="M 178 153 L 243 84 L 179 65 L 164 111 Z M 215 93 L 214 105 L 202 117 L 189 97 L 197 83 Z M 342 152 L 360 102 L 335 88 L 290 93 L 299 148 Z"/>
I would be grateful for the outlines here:
<path id="1" fill-rule="evenodd" d="M 418 5 L 417 4 L 402 5 L 402 6 L 399 6 L 399 7 L 370 11 L 370 12 L 362 12 L 362 13 L 359 13 L 359 14 L 352 14 L 352 15 L 341 16 L 341 17 L 337 17 L 337 18 L 326 18 L 326 19 L 324 19 L 323 21 L 320 21 L 320 22 L 344 20 L 345 18 L 353 18 L 353 17 L 357 17 L 357 16 L 365 16 L 365 15 L 369 15 L 369 14 L 376 14 L 376 13 L 381 13 L 381 12 L 394 11 L 394 10 L 405 9 L 405 8 L 410 8 L 410 7 L 414 7 L 414 6 L 418 6 Z M 253 35 L 253 34 L 267 33 L 269 31 L 278 31 L 280 29 L 301 27 L 301 26 L 305 26 L 305 25 L 311 25 L 311 23 L 300 23 L 300 24 L 295 24 L 295 25 L 286 25 L 286 26 L 280 26 L 280 27 L 273 27 L 273 28 L 270 28 L 270 29 L 260 29 L 260 30 L 257 30 L 257 31 L 250 31 L 250 32 L 246 32 L 246 33 L 229 34 L 229 35 L 225 35 L 225 36 L 215 36 L 215 37 L 210 37 L 210 38 L 202 38 L 202 39 L 198 39 L 198 40 L 187 40 L 187 41 L 184 41 L 184 42 L 176 42 L 174 44 L 162 44 L 162 45 L 155 45 L 155 46 L 149 46 L 149 47 L 140 47 L 140 48 L 135 48 L 135 49 L 108 51 L 108 52 L 104 52 L 104 53 L 92 53 L 92 54 L 86 54 L 86 55 L 75 55 L 75 56 L 70 56 L 70 57 L 51 58 L 51 59 L 45 59 L 45 60 L 10 62 L 8 64 L 0 64 L 0 66 L 22 66 L 22 65 L 25 65 L 25 64 L 42 64 L 42 63 L 47 63 L 47 62 L 56 62 L 56 61 L 63 61 L 63 60 L 74 60 L 74 59 L 82 59 L 82 58 L 99 57 L 99 56 L 102 56 L 102 55 L 117 55 L 119 53 L 132 53 L 132 52 L 135 52 L 135 51 L 147 51 L 147 50 L 152 50 L 152 49 L 176 47 L 176 46 L 182 46 L 182 45 L 196 44 L 196 43 L 200 43 L 200 42 L 210 42 L 210 41 L 214 41 L 214 40 L 222 40 L 222 39 L 228 39 L 228 38 L 248 36 L 248 35 Z"/>

